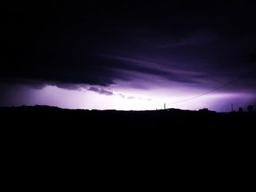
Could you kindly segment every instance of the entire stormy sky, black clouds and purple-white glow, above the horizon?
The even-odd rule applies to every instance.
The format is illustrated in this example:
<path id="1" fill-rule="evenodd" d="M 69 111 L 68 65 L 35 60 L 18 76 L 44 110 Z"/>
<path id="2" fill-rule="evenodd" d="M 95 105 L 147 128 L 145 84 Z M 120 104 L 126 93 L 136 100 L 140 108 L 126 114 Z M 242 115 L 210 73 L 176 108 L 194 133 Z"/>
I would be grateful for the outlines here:
<path id="1" fill-rule="evenodd" d="M 255 1 L 0 7 L 0 106 L 256 108 Z"/>

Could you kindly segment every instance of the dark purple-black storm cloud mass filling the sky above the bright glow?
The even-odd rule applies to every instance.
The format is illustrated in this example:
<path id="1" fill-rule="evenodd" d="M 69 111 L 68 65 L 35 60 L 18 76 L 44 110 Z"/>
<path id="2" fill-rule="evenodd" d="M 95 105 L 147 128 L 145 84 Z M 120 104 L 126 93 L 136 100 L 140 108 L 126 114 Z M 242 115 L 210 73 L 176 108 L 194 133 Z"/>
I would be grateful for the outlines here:
<path id="1" fill-rule="evenodd" d="M 254 5 L 249 1 L 4 3 L 0 77 L 68 89 L 130 81 L 137 73 L 152 76 L 152 81 L 161 77 L 203 84 L 211 77 L 222 83 L 225 77 L 255 71 L 255 65 L 246 63 L 256 49 Z M 252 80 L 255 77 L 247 78 Z"/>

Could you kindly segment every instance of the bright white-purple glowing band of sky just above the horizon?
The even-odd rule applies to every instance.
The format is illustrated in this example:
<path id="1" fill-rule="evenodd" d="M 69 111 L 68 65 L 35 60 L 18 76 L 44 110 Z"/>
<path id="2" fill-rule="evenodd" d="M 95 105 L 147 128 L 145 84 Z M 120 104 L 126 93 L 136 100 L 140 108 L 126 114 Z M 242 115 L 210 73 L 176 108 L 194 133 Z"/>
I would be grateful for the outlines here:
<path id="1" fill-rule="evenodd" d="M 181 83 L 178 88 L 168 88 L 167 83 L 157 85 L 150 82 L 141 82 L 147 88 L 135 87 L 135 82 L 128 85 L 127 82 L 118 82 L 108 88 L 99 85 L 71 85 L 67 88 L 56 85 L 44 85 L 43 87 L 31 87 L 31 85 L 8 86 L 2 94 L 2 106 L 20 105 L 50 105 L 69 109 L 97 109 L 97 110 L 156 110 L 167 108 L 179 108 L 183 110 L 200 110 L 208 108 L 218 112 L 229 112 L 231 103 L 233 109 L 238 107 L 246 109 L 248 104 L 255 102 L 256 93 L 241 91 L 215 91 L 197 99 L 176 103 L 193 98 L 208 90 L 204 88 L 191 88 Z M 161 82 L 161 80 L 157 80 Z M 130 82 L 129 82 L 130 83 Z M 172 87 L 170 83 L 170 87 Z M 0 86 L 2 90 L 3 86 Z M 150 88 L 149 88 L 150 87 Z"/>

